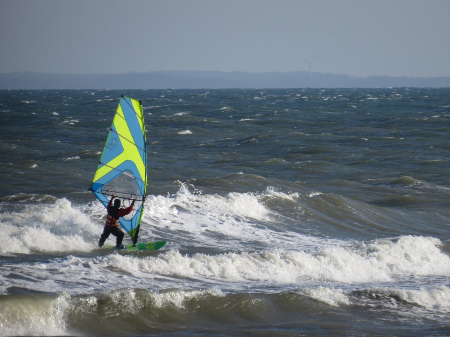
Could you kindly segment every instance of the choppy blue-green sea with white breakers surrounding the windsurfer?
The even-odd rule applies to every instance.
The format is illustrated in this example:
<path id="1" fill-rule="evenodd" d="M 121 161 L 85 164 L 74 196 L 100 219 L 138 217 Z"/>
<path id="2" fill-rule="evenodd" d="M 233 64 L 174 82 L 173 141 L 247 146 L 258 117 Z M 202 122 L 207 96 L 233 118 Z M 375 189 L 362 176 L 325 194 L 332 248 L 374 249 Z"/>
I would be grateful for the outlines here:
<path id="1" fill-rule="evenodd" d="M 97 244 L 121 95 L 157 251 Z M 450 88 L 0 90 L 0 117 L 1 337 L 450 336 Z"/>

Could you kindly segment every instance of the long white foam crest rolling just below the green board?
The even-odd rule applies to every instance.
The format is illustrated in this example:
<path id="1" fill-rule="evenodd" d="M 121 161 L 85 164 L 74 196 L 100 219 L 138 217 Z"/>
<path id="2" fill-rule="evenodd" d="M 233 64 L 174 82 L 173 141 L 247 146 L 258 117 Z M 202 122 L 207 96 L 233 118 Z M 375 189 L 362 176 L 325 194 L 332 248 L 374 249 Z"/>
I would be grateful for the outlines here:
<path id="1" fill-rule="evenodd" d="M 113 254 L 106 257 L 107 261 L 103 263 L 126 270 L 139 278 L 159 274 L 223 282 L 297 284 L 301 280 L 317 280 L 355 284 L 386 282 L 405 275 L 450 275 L 450 258 L 436 247 L 436 239 L 400 239 L 406 244 L 402 246 L 405 256 L 398 253 L 400 247 L 396 243 L 386 244 L 377 240 L 373 243 L 379 248 L 376 253 L 365 248 L 336 246 L 321 248 L 316 252 L 275 250 L 214 256 L 200 253 L 187 256 L 171 250 L 144 259 Z M 416 258 L 405 266 L 405 260 L 413 255 Z"/>

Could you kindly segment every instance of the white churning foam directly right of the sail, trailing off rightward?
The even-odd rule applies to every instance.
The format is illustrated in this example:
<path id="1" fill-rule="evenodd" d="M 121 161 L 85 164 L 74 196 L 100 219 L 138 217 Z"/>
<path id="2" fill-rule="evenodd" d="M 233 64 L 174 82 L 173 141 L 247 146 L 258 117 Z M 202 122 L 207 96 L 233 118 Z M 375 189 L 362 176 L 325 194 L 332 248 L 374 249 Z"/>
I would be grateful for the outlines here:
<path id="1" fill-rule="evenodd" d="M 297 192 L 283 193 L 273 187 L 262 193 L 203 195 L 193 186 L 181 184 L 180 191 L 175 195 L 148 197 L 141 233 L 152 238 L 152 229 L 160 229 L 173 233 L 176 242 L 188 239 L 206 247 L 223 249 L 229 249 L 230 242 L 242 248 L 246 242 L 260 242 L 279 248 L 292 248 L 294 244 L 298 249 L 344 242 L 293 231 L 275 231 L 264 225 L 276 222 L 278 216 L 265 204 L 272 204 L 273 200 L 296 202 L 298 197 Z M 237 243 L 240 243 L 239 246 Z"/>

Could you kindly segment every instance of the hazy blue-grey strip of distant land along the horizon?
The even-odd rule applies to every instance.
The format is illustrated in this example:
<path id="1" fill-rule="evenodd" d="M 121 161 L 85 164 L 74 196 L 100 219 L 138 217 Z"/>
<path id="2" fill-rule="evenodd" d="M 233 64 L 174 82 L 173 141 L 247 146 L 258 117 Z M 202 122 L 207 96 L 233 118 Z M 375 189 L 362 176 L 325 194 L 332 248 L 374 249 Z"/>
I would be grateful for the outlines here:
<path id="1" fill-rule="evenodd" d="M 0 74 L 0 89 L 251 89 L 450 87 L 450 77 L 356 77 L 309 71 L 149 71 L 122 74 Z"/>

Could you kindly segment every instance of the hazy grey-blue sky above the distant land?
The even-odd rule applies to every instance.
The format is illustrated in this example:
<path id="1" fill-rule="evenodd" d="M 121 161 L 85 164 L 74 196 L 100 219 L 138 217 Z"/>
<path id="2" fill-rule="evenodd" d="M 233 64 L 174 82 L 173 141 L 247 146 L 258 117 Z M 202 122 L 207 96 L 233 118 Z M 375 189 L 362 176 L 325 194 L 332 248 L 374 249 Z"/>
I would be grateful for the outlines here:
<path id="1" fill-rule="evenodd" d="M 0 73 L 450 76 L 450 0 L 0 0 Z"/>

